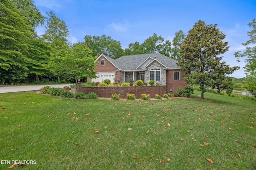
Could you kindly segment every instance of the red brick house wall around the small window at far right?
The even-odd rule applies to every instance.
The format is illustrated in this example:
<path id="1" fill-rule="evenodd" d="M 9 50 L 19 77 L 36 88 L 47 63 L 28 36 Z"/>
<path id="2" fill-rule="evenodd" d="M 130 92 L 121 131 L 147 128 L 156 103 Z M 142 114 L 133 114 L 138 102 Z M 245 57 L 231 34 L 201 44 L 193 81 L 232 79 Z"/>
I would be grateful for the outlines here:
<path id="1" fill-rule="evenodd" d="M 174 80 L 174 72 L 180 72 L 180 80 Z M 184 88 L 186 86 L 186 81 L 181 76 L 184 74 L 180 70 L 167 70 L 166 71 L 166 92 L 169 92 L 172 89 L 173 92 L 177 92 L 177 88 Z"/>

